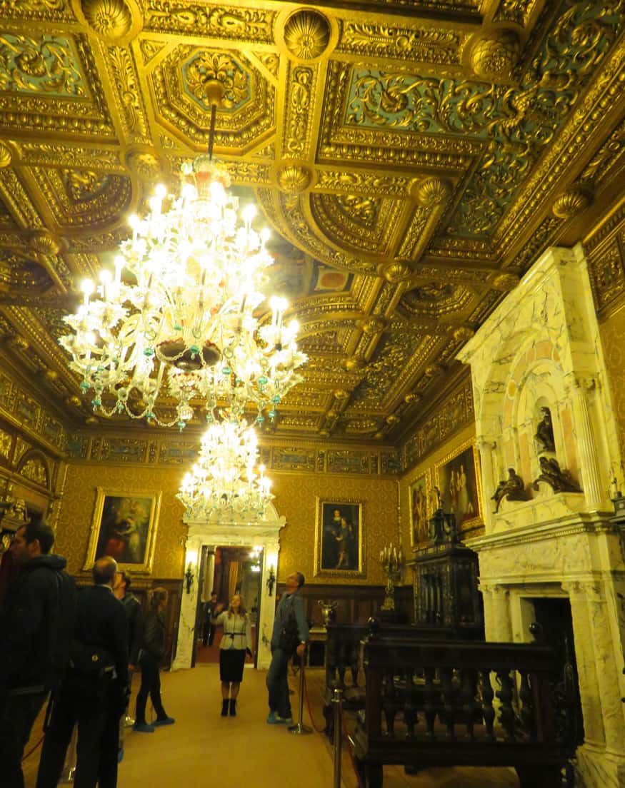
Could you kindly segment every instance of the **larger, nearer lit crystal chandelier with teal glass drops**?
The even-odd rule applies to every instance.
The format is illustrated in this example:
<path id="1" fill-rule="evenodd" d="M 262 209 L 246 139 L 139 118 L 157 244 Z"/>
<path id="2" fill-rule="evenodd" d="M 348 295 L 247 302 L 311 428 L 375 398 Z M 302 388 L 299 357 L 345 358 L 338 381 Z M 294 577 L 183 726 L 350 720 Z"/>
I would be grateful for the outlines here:
<path id="1" fill-rule="evenodd" d="M 202 155 L 181 168 L 180 195 L 158 186 L 143 219 L 130 219 L 132 238 L 121 243 L 114 274 L 83 284 L 84 300 L 64 318 L 73 333 L 61 336 L 80 388 L 93 390 L 94 411 L 126 413 L 183 429 L 192 400 L 203 400 L 208 422 L 218 408 L 227 418 L 256 420 L 277 406 L 307 356 L 297 349 L 296 322 L 284 325 L 284 299 L 270 299 L 271 320 L 255 310 L 265 300 L 265 270 L 273 262 L 269 231 L 243 221 L 225 169 Z M 122 271 L 130 276 L 122 277 Z M 93 296 L 93 297 L 91 297 Z M 176 418 L 154 411 L 158 396 L 176 401 Z"/>

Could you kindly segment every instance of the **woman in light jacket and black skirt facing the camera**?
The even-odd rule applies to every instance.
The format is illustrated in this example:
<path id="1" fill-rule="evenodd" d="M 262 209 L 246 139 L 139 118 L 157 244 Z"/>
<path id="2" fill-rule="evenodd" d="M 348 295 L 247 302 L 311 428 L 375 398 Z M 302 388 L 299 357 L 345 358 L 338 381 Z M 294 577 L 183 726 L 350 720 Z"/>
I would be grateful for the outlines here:
<path id="1" fill-rule="evenodd" d="M 219 645 L 219 678 L 221 679 L 221 716 L 236 716 L 236 696 L 243 680 L 246 652 L 251 651 L 250 617 L 245 612 L 238 593 L 230 600 L 228 610 L 220 613 L 215 623 L 223 626 Z"/>

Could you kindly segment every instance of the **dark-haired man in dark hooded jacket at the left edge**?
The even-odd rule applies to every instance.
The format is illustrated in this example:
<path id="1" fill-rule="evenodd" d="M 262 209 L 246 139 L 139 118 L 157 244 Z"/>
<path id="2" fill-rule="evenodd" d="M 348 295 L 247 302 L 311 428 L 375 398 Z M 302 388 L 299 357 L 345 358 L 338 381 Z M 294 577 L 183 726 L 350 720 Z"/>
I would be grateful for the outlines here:
<path id="1" fill-rule="evenodd" d="M 0 770 L 3 788 L 24 788 L 21 758 L 32 725 L 69 655 L 76 589 L 50 555 L 54 532 L 42 519 L 17 529 L 9 548 L 19 567 L 0 609 Z"/>

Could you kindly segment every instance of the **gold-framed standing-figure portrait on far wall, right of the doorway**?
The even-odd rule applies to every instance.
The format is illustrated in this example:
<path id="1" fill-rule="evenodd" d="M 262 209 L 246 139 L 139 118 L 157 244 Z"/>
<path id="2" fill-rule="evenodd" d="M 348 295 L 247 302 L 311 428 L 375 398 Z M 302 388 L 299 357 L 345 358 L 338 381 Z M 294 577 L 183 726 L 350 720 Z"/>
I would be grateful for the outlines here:
<path id="1" fill-rule="evenodd" d="M 365 577 L 363 504 L 355 500 L 317 499 L 314 574 Z"/>

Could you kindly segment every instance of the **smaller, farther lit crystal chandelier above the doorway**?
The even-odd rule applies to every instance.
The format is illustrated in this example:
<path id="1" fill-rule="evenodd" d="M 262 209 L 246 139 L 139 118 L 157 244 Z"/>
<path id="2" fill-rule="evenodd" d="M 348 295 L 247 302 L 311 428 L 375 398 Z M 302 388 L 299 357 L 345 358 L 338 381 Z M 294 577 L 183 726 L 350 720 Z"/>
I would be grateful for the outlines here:
<path id="1" fill-rule="evenodd" d="M 261 517 L 273 495 L 264 466 L 255 463 L 259 445 L 246 422 L 219 422 L 202 438 L 197 462 L 177 493 L 189 519 Z"/>

